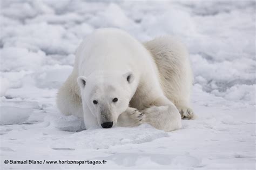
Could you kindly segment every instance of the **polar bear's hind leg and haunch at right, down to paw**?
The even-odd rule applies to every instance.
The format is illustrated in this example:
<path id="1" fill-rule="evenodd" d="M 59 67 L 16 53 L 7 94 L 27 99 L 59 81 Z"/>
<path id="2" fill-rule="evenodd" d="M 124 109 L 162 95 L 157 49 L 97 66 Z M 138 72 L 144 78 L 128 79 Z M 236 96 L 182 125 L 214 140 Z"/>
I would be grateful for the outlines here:
<path id="1" fill-rule="evenodd" d="M 155 38 L 144 46 L 157 64 L 165 96 L 178 108 L 181 118 L 193 119 L 190 108 L 193 75 L 185 46 L 172 36 Z"/>

